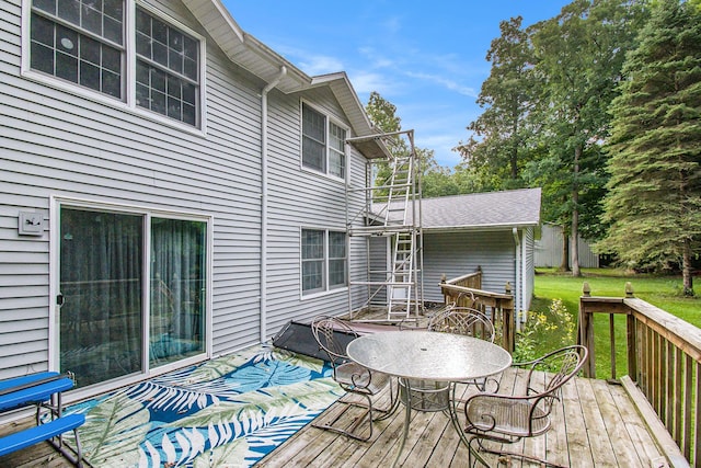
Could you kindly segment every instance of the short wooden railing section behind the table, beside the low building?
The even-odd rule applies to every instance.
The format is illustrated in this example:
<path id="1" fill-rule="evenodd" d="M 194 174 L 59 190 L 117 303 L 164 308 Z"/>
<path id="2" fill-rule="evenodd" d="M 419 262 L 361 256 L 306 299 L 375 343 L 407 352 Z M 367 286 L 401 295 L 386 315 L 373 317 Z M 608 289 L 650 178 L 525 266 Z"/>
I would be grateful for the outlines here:
<path id="1" fill-rule="evenodd" d="M 476 307 L 487 315 L 501 335 L 501 345 L 509 353 L 514 352 L 516 333 L 514 330 L 514 295 L 510 285 L 506 293 L 492 293 L 481 289 L 482 271 L 470 273 L 453 279 L 443 279 L 440 290 L 445 304 L 455 303 L 458 307 Z"/>

